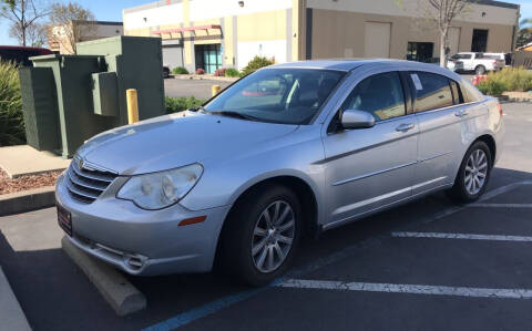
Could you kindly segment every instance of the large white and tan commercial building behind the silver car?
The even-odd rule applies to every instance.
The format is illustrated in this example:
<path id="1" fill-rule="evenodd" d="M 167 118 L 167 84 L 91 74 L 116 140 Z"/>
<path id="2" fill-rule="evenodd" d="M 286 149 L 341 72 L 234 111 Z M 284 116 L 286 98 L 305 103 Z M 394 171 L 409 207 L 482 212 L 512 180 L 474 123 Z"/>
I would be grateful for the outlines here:
<path id="1" fill-rule="evenodd" d="M 163 39 L 170 68 L 242 69 L 255 55 L 434 61 L 439 34 L 427 0 L 165 0 L 123 10 L 126 35 Z M 451 53 L 511 52 L 518 4 L 474 0 L 452 23 Z"/>

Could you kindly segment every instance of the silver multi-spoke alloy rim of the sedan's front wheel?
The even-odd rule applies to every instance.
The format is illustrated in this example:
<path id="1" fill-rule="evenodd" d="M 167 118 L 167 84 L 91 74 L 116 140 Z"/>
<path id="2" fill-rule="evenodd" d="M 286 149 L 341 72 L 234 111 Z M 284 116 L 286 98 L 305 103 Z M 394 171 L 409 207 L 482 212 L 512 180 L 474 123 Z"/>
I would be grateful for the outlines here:
<path id="1" fill-rule="evenodd" d="M 290 251 L 296 235 L 294 210 L 285 200 L 266 207 L 258 217 L 252 237 L 252 257 L 260 272 L 279 268 Z"/>

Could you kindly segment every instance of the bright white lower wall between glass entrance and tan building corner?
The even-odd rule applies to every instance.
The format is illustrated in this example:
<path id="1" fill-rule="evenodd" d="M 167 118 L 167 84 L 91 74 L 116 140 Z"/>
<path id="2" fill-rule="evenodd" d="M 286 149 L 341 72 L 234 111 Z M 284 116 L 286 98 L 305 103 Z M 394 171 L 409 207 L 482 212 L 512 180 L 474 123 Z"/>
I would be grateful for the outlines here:
<path id="1" fill-rule="evenodd" d="M 286 62 L 286 40 L 265 40 L 238 42 L 238 70 L 247 65 L 255 55 L 274 58 L 275 63 Z"/>

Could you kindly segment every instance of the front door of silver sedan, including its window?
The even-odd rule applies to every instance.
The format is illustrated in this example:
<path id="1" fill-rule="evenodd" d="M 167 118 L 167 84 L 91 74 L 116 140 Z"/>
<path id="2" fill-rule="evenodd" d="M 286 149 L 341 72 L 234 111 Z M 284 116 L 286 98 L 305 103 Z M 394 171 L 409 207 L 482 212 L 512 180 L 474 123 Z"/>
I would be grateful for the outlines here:
<path id="1" fill-rule="evenodd" d="M 410 100 L 400 74 L 374 73 L 357 79 L 348 91 L 323 138 L 329 215 L 325 227 L 411 196 L 418 125 L 407 112 Z M 375 126 L 342 130 L 339 113 L 347 108 L 371 113 Z"/>

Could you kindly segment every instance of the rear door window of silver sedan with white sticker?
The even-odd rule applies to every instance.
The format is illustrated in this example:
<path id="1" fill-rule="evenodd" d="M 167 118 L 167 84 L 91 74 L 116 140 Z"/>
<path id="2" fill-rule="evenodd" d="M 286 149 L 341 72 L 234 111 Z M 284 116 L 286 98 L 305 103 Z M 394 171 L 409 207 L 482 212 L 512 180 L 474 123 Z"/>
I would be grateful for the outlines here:
<path id="1" fill-rule="evenodd" d="M 413 108 L 417 113 L 453 104 L 448 77 L 428 72 L 412 72 L 410 77 L 416 91 Z"/>

